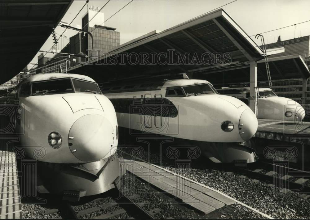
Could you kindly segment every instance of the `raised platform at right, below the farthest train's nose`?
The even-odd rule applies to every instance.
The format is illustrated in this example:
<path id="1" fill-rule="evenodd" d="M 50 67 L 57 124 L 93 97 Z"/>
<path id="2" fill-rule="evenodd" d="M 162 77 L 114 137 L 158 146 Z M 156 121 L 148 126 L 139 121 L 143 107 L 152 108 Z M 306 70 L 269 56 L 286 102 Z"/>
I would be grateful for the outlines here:
<path id="1" fill-rule="evenodd" d="M 298 141 L 310 145 L 310 122 L 280 121 L 258 118 L 255 137 L 291 142 L 291 137 L 300 137 Z"/>

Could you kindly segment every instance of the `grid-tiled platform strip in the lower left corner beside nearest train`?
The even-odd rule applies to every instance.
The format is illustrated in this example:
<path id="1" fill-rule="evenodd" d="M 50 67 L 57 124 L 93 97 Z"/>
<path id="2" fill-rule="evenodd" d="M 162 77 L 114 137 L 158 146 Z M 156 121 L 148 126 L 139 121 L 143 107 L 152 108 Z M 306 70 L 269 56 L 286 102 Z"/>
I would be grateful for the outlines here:
<path id="1" fill-rule="evenodd" d="M 0 219 L 21 219 L 15 153 L 0 150 Z"/>

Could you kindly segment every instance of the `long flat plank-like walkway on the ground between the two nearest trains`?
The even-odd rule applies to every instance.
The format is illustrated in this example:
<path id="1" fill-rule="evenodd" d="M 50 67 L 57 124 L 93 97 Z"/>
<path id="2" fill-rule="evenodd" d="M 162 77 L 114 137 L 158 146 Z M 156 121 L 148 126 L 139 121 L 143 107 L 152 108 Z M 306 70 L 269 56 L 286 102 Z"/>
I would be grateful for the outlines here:
<path id="1" fill-rule="evenodd" d="M 145 162 L 123 159 L 121 166 L 153 186 L 175 196 L 174 199 L 179 199 L 204 214 L 235 203 L 218 192 L 174 176 Z"/>

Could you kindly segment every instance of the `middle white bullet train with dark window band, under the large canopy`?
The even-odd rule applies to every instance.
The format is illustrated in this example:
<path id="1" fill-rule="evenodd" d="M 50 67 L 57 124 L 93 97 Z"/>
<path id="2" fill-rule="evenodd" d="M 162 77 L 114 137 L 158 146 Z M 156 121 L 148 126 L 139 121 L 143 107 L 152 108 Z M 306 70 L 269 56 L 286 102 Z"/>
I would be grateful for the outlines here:
<path id="1" fill-rule="evenodd" d="M 216 163 L 255 162 L 253 149 L 239 143 L 256 133 L 258 121 L 242 101 L 219 95 L 206 80 L 175 79 L 100 84 L 114 105 L 120 127 L 195 144 Z"/>

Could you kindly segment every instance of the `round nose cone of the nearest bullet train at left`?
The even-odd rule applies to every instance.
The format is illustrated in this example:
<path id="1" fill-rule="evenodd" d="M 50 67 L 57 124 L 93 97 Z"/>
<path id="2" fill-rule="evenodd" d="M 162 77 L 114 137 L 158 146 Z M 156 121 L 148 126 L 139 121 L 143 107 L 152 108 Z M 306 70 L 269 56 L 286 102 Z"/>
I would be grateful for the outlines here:
<path id="1" fill-rule="evenodd" d="M 68 142 L 72 154 L 79 160 L 97 161 L 109 154 L 114 142 L 114 129 L 101 115 L 85 115 L 72 125 Z"/>

